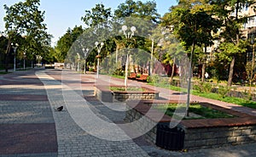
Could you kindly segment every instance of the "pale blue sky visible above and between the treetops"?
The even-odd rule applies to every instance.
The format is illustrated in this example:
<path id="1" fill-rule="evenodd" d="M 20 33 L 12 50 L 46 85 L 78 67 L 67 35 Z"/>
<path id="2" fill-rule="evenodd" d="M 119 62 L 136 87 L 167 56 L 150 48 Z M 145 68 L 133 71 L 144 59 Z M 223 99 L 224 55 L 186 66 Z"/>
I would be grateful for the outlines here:
<path id="1" fill-rule="evenodd" d="M 136 1 L 136 0 L 134 0 Z M 147 0 L 141 0 L 147 2 Z M 3 5 L 11 6 L 15 3 L 24 2 L 24 0 L 0 0 L 0 31 L 4 31 L 5 10 Z M 81 17 L 85 10 L 94 8 L 97 3 L 102 3 L 105 8 L 112 8 L 114 11 L 120 3 L 125 0 L 41 0 L 39 9 L 45 11 L 44 24 L 47 25 L 48 33 L 53 35 L 53 44 L 63 36 L 68 28 L 73 29 L 75 25 L 85 26 Z M 157 4 L 157 11 L 162 16 L 172 5 L 177 4 L 177 0 L 154 0 Z"/>

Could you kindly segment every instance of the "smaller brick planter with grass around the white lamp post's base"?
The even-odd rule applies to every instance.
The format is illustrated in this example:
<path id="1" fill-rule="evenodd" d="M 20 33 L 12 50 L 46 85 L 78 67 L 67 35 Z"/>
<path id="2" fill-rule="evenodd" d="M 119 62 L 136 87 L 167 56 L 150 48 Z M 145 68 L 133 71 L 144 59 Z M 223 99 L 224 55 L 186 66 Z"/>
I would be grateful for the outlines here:
<path id="1" fill-rule="evenodd" d="M 95 96 L 102 102 L 125 102 L 126 100 L 152 100 L 159 92 L 147 87 L 96 86 Z"/>

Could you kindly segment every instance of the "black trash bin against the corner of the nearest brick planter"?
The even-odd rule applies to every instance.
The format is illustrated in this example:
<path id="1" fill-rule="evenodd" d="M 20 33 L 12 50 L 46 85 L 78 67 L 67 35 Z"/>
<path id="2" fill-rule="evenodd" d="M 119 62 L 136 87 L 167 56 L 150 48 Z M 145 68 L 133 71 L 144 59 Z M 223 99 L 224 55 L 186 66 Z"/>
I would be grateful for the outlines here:
<path id="1" fill-rule="evenodd" d="M 182 150 L 184 146 L 185 132 L 182 128 L 170 128 L 166 125 L 158 125 L 155 144 L 168 150 Z"/>

